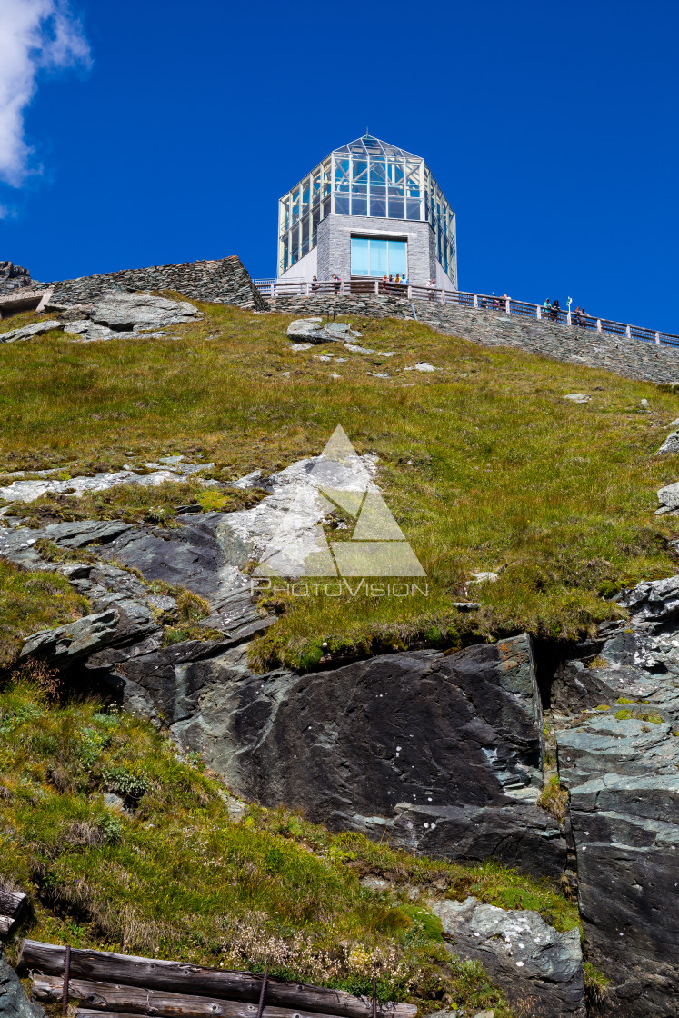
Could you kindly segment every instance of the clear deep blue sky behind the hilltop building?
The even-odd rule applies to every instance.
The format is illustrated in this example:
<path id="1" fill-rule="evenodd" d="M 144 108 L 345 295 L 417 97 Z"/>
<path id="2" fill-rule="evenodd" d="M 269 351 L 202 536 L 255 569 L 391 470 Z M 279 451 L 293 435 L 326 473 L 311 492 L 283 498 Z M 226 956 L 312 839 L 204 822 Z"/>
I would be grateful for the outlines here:
<path id="1" fill-rule="evenodd" d="M 455 208 L 461 289 L 679 333 L 676 2 L 0 0 L 3 33 L 0 260 L 34 278 L 271 275 L 278 197 L 367 126 Z"/>

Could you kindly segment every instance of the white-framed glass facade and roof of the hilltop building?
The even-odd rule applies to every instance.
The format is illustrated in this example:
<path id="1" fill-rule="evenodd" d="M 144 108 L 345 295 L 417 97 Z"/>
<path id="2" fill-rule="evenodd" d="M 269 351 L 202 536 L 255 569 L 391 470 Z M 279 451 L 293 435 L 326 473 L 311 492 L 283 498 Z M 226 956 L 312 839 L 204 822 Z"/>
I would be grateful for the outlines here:
<path id="1" fill-rule="evenodd" d="M 330 213 L 429 222 L 436 257 L 457 286 L 455 213 L 419 156 L 371 134 L 332 152 L 279 202 L 279 275 L 316 247 Z"/>

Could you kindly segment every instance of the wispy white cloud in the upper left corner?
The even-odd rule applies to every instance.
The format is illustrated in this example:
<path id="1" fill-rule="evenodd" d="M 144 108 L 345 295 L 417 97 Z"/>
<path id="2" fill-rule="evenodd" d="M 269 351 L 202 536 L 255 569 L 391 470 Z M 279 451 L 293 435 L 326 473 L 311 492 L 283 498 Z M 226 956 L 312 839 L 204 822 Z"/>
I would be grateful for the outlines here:
<path id="1" fill-rule="evenodd" d="M 32 150 L 23 114 L 43 70 L 90 64 L 90 47 L 68 0 L 0 0 L 0 179 L 18 187 Z"/>

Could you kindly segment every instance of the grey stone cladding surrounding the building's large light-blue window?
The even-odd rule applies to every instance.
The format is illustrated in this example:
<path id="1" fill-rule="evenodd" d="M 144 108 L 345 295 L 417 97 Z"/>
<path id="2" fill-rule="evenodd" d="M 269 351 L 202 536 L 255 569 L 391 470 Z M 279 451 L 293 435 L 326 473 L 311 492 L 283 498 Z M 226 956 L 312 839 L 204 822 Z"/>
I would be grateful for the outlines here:
<path id="1" fill-rule="evenodd" d="M 436 238 L 429 223 L 332 214 L 319 223 L 319 279 L 331 279 L 335 274 L 351 278 L 352 235 L 407 240 L 412 285 L 426 286 L 428 279 L 436 278 Z"/>

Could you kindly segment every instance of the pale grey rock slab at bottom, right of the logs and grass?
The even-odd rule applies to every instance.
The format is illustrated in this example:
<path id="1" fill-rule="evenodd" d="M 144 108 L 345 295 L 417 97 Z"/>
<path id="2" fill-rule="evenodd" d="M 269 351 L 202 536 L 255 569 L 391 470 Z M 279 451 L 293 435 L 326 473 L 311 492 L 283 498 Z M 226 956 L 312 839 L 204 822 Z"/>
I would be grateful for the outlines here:
<path id="1" fill-rule="evenodd" d="M 537 912 L 505 911 L 471 897 L 430 907 L 453 939 L 451 951 L 479 961 L 510 1003 L 532 1005 L 541 1018 L 585 1018 L 578 929 L 558 932 Z"/>

